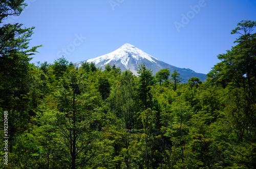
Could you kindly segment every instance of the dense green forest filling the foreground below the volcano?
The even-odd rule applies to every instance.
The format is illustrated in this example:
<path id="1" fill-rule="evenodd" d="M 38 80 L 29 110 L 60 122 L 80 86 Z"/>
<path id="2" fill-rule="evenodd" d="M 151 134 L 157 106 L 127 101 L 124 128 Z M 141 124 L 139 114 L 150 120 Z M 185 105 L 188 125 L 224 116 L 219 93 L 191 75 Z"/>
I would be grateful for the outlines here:
<path id="1" fill-rule="evenodd" d="M 1 1 L 0 23 L 23 2 Z M 230 30 L 239 36 L 206 82 L 181 83 L 143 64 L 135 76 L 65 57 L 30 63 L 35 28 L 2 24 L 0 168 L 256 168 L 255 27 Z"/>

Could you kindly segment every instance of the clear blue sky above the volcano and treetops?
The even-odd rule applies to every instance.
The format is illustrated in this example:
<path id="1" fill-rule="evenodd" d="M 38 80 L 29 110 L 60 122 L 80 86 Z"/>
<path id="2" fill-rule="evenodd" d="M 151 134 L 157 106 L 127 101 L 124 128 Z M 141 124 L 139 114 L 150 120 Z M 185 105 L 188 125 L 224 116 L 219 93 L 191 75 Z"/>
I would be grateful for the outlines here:
<path id="1" fill-rule="evenodd" d="M 33 63 L 53 63 L 61 55 L 75 63 L 130 43 L 166 63 L 207 74 L 217 55 L 235 45 L 238 35 L 230 32 L 237 23 L 256 20 L 255 0 L 26 2 L 19 17 L 6 21 L 35 27 L 30 44 L 44 46 Z"/>

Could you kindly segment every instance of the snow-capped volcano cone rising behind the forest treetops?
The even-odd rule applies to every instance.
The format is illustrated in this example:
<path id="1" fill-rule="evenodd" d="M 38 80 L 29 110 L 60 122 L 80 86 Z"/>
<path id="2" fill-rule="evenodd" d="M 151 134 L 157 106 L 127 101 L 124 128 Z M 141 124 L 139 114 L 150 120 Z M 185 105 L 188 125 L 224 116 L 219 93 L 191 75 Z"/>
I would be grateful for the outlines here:
<path id="1" fill-rule="evenodd" d="M 206 80 L 206 75 L 204 74 L 198 74 L 191 69 L 179 68 L 162 62 L 129 43 L 123 44 L 121 47 L 119 47 L 119 49 L 109 54 L 102 55 L 93 59 L 88 59 L 85 61 L 80 61 L 75 64 L 76 66 L 80 67 L 83 62 L 94 62 L 96 67 L 101 67 L 102 69 L 104 69 L 107 64 L 115 64 L 116 67 L 120 67 L 122 71 L 130 69 L 136 76 L 138 75 L 138 66 L 144 63 L 148 69 L 153 70 L 153 74 L 156 74 L 157 71 L 163 68 L 169 68 L 171 73 L 174 69 L 179 70 L 179 73 L 181 74 L 180 76 L 183 78 L 183 82 L 187 82 L 187 80 L 191 77 L 198 77 L 201 81 Z"/>

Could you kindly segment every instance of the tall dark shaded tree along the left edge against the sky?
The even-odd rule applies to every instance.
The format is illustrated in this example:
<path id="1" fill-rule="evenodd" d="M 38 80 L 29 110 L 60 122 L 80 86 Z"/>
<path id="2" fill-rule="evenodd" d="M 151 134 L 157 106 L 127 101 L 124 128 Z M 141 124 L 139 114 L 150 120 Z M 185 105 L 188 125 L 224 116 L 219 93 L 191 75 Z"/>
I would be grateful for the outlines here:
<path id="1" fill-rule="evenodd" d="M 24 9 L 24 1 L 1 1 L 0 23 L 8 16 L 18 16 Z M 30 79 L 29 61 L 37 47 L 29 49 L 29 41 L 33 34 L 32 28 L 23 27 L 21 23 L 10 23 L 0 27 L 0 109 L 9 112 L 9 146 L 12 152 L 15 137 L 26 130 L 30 119 L 29 92 Z M 2 117 L 0 123 L 3 124 Z"/>

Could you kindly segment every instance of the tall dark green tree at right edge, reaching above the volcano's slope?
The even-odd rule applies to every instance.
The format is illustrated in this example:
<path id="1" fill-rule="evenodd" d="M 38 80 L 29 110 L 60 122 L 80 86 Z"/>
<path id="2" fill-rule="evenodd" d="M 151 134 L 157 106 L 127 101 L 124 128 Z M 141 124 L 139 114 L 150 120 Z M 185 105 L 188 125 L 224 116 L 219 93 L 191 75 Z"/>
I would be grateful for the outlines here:
<path id="1" fill-rule="evenodd" d="M 222 62 L 214 66 L 208 77 L 216 84 L 223 87 L 243 87 L 247 89 L 250 98 L 255 100 L 255 76 L 256 76 L 256 34 L 252 34 L 256 22 L 242 20 L 231 34 L 239 34 L 240 37 L 234 41 L 237 43 L 226 54 L 221 54 L 218 59 Z"/>

